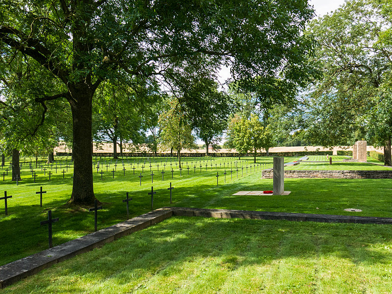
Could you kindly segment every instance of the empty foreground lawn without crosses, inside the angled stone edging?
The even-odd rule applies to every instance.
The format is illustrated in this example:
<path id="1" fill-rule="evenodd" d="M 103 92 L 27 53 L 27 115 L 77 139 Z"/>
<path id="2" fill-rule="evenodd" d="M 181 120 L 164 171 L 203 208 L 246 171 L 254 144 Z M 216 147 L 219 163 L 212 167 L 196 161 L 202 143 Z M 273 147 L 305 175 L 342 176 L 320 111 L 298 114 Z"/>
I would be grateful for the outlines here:
<path id="1" fill-rule="evenodd" d="M 2 290 L 391 293 L 392 226 L 173 217 Z"/>

